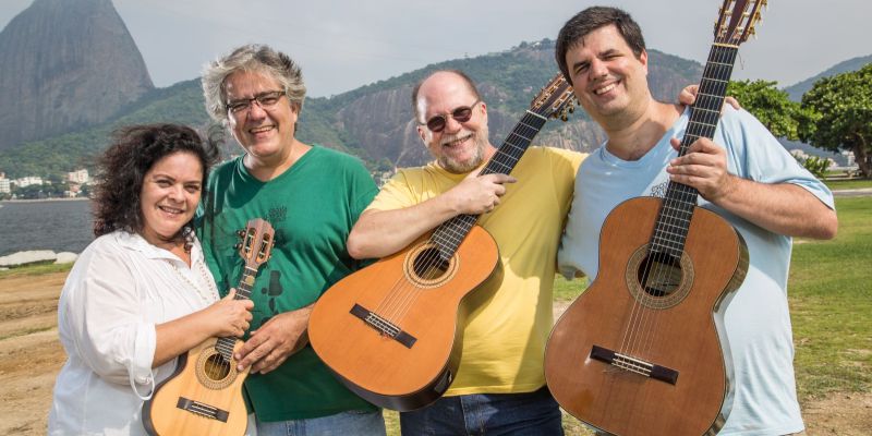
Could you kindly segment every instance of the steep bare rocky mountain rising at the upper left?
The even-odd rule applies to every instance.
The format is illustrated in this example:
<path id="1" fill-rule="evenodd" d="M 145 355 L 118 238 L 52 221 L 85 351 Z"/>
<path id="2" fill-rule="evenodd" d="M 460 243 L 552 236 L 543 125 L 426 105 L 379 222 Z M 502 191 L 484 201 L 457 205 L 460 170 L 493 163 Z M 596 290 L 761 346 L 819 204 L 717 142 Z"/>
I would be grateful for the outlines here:
<path id="1" fill-rule="evenodd" d="M 0 33 L 0 150 L 101 123 L 153 88 L 111 0 L 35 0 Z"/>

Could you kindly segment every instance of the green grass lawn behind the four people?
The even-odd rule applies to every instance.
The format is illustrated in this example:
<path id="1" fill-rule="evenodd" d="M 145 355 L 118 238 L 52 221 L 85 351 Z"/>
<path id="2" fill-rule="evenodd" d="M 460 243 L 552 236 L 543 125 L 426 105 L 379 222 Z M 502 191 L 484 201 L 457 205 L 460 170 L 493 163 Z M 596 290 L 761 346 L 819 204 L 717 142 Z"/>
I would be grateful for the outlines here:
<path id="1" fill-rule="evenodd" d="M 827 182 L 831 189 L 872 187 L 872 181 Z M 831 392 L 872 391 L 872 197 L 836 199 L 838 237 L 798 239 L 788 295 L 800 403 Z M 69 270 L 38 265 L 0 271 L 0 278 Z M 584 280 L 555 279 L 557 302 L 572 301 Z M 399 435 L 397 412 L 386 411 L 388 435 Z M 566 416 L 568 435 L 592 435 Z"/>

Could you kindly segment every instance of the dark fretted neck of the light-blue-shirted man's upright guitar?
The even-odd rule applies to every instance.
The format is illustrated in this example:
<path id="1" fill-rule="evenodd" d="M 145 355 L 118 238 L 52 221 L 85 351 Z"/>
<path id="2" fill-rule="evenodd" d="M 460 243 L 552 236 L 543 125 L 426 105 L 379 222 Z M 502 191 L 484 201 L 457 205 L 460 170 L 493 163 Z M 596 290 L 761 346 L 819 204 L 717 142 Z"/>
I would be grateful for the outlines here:
<path id="1" fill-rule="evenodd" d="M 685 156 L 690 145 L 701 137 L 714 138 L 738 51 L 738 46 L 723 44 L 712 46 L 700 82 L 700 92 L 697 94 L 695 102 L 690 107 L 690 120 L 678 156 Z M 694 187 L 669 182 L 663 209 L 654 229 L 653 251 L 681 256 L 699 194 Z"/>

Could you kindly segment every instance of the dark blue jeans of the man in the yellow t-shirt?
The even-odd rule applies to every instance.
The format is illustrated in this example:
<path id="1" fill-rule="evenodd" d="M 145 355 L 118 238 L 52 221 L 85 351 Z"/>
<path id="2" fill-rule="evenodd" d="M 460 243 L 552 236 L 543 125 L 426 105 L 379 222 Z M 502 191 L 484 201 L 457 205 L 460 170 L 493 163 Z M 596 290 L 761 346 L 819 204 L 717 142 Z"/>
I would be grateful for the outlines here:
<path id="1" fill-rule="evenodd" d="M 426 408 L 400 413 L 403 436 L 562 435 L 560 408 L 547 387 L 530 393 L 443 397 Z"/>

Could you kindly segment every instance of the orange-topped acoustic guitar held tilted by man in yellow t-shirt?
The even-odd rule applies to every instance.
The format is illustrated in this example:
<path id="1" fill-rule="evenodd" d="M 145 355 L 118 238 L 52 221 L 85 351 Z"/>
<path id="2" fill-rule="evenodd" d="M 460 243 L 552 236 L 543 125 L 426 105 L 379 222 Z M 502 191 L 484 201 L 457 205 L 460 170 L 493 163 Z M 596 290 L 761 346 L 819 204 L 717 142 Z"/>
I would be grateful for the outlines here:
<path id="1" fill-rule="evenodd" d="M 572 93 L 555 76 L 481 175 L 508 174 L 549 117 L 566 117 Z M 351 390 L 383 408 L 424 407 L 453 380 L 463 299 L 499 261 L 494 239 L 460 215 L 402 251 L 335 283 L 315 303 L 312 348 Z"/>

